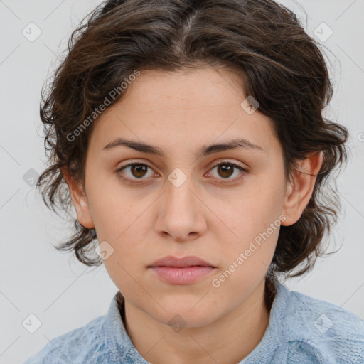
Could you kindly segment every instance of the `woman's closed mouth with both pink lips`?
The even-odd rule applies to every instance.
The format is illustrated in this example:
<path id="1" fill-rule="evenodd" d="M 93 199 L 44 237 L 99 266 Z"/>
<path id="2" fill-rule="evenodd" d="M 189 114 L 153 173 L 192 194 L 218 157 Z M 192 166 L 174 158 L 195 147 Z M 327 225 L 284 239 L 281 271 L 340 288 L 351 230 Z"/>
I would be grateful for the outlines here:
<path id="1" fill-rule="evenodd" d="M 149 267 L 156 277 L 168 284 L 193 284 L 217 269 L 198 257 L 164 257 Z"/>

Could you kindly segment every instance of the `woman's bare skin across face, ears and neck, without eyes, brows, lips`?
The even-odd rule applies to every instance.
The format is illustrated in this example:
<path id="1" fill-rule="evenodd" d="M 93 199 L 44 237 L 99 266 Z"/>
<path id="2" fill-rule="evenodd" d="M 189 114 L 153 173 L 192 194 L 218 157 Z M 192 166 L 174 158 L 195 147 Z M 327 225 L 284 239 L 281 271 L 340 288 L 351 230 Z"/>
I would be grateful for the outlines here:
<path id="1" fill-rule="evenodd" d="M 114 250 L 105 267 L 124 296 L 127 332 L 151 363 L 237 363 L 257 346 L 269 323 L 264 276 L 279 228 L 220 287 L 212 281 L 269 224 L 288 226 L 299 220 L 322 154 L 301 161 L 313 176 L 294 173 L 286 181 L 282 146 L 271 122 L 259 109 L 245 112 L 240 106 L 245 98 L 239 77 L 222 68 L 143 71 L 122 100 L 92 125 L 85 191 L 63 171 L 78 220 L 95 228 L 98 241 Z M 127 146 L 102 151 L 117 137 L 158 146 L 166 156 Z M 264 151 L 196 155 L 202 146 L 237 137 Z M 229 175 L 214 168 L 226 161 L 249 173 L 235 168 Z M 149 168 L 144 175 L 130 167 L 117 172 L 132 162 Z M 187 178 L 179 187 L 168 180 L 175 168 Z M 242 178 L 221 183 L 238 176 Z M 138 177 L 142 183 L 133 184 Z M 167 284 L 148 268 L 166 255 L 196 255 L 217 269 L 194 284 Z M 176 315 L 183 319 L 179 331 L 170 324 Z"/>

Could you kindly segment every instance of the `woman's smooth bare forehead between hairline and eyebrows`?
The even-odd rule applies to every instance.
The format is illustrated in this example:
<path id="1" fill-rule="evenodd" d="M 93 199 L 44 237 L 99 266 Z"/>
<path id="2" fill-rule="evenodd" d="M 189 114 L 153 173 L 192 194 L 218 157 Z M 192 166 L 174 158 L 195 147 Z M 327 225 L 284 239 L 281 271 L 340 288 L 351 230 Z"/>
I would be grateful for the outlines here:
<path id="1" fill-rule="evenodd" d="M 195 152 L 202 145 L 245 138 L 264 151 L 279 148 L 272 122 L 247 113 L 242 79 L 213 67 L 166 73 L 141 71 L 117 104 L 96 121 L 90 144 L 102 150 L 117 137 L 161 146 L 183 144 Z"/>

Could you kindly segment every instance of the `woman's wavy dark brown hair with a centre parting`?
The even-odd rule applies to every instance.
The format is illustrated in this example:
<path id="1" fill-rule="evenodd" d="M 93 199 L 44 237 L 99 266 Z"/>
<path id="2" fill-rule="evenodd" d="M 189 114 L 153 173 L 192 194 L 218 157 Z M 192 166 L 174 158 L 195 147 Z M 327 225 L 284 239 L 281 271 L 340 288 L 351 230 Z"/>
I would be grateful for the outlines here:
<path id="1" fill-rule="evenodd" d="M 347 159 L 348 130 L 323 117 L 333 87 L 319 44 L 296 14 L 273 0 L 114 0 L 97 6 L 73 31 L 64 60 L 42 89 L 48 168 L 36 186 L 43 201 L 55 212 L 58 205 L 69 213 L 65 169 L 85 187 L 92 125 L 77 137 L 74 131 L 87 118 L 90 124 L 90 115 L 111 90 L 119 90 L 108 98 L 114 105 L 124 95 L 120 83 L 135 70 L 173 72 L 203 63 L 241 76 L 245 95 L 258 100 L 259 112 L 272 120 L 287 179 L 299 168 L 298 161 L 323 152 L 308 205 L 296 223 L 279 230 L 267 281 L 278 274 L 304 274 L 323 255 L 323 237 L 341 207 L 336 189 L 323 186 Z M 87 256 L 97 239 L 95 228 L 73 220 L 75 232 L 56 248 L 74 250 L 89 266 L 102 264 L 100 257 Z"/>

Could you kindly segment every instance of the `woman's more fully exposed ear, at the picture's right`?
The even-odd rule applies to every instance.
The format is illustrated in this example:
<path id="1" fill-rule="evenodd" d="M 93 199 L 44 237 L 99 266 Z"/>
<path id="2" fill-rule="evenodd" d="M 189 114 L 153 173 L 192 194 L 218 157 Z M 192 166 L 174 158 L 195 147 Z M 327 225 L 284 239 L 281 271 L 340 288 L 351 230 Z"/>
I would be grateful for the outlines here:
<path id="1" fill-rule="evenodd" d="M 291 181 L 287 182 L 282 209 L 282 215 L 286 217 L 286 220 L 282 221 L 282 225 L 293 225 L 301 217 L 314 191 L 316 176 L 322 164 L 322 151 L 310 154 L 306 159 L 300 161 L 301 171 L 294 171 Z"/>

